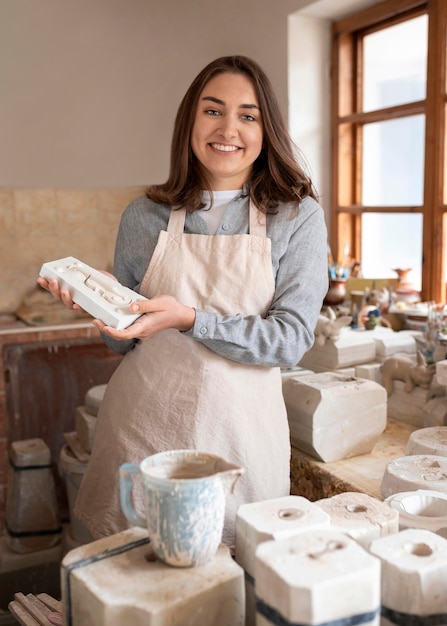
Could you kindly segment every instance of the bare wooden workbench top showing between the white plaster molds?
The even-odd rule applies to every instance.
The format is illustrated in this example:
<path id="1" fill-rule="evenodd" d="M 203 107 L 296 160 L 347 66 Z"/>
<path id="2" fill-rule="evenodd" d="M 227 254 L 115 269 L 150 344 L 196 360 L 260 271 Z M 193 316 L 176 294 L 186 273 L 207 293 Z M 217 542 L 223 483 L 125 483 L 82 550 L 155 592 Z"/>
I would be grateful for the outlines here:
<path id="1" fill-rule="evenodd" d="M 370 454 L 324 463 L 292 447 L 291 493 L 311 501 L 360 491 L 382 500 L 380 486 L 387 464 L 405 455 L 410 434 L 419 427 L 388 419 Z"/>

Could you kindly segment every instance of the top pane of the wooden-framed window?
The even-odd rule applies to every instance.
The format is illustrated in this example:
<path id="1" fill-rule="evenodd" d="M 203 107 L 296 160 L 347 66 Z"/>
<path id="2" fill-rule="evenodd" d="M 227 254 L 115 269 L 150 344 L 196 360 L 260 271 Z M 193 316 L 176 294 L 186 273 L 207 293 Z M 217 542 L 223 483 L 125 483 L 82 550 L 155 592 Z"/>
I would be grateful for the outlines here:
<path id="1" fill-rule="evenodd" d="M 421 15 L 364 38 L 364 111 L 425 99 L 427 35 Z"/>

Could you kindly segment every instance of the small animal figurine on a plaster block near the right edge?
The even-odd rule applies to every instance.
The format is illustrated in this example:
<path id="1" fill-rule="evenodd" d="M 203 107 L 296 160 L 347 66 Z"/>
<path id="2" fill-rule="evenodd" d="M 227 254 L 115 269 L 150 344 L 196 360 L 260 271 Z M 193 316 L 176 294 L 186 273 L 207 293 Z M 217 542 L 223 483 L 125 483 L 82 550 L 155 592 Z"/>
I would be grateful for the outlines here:
<path id="1" fill-rule="evenodd" d="M 390 357 L 382 363 L 382 383 L 388 396 L 393 393 L 394 379 L 402 380 L 405 383 L 404 390 L 411 393 L 416 386 L 429 389 L 435 373 L 436 365 L 427 365 L 421 351 L 418 351 L 417 365 L 404 355 Z"/>

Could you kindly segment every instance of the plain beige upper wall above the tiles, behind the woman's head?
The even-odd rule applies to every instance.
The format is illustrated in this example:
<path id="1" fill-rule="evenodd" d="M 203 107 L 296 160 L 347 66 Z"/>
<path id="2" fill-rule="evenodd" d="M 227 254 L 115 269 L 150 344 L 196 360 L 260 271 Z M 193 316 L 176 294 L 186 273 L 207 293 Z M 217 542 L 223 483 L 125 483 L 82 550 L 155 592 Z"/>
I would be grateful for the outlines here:
<path id="1" fill-rule="evenodd" d="M 309 0 L 2 0 L 0 186 L 160 182 L 186 87 L 241 53 L 287 114 L 287 15 Z"/>

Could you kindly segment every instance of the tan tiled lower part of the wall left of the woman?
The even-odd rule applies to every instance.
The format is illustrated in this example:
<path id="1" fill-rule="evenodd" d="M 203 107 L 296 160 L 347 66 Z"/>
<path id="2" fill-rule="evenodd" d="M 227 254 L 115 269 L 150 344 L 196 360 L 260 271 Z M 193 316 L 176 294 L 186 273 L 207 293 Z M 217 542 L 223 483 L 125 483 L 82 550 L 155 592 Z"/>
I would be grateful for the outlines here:
<path id="1" fill-rule="evenodd" d="M 45 261 L 74 256 L 110 271 L 121 213 L 141 193 L 0 188 L 0 313 L 17 310 Z"/>

